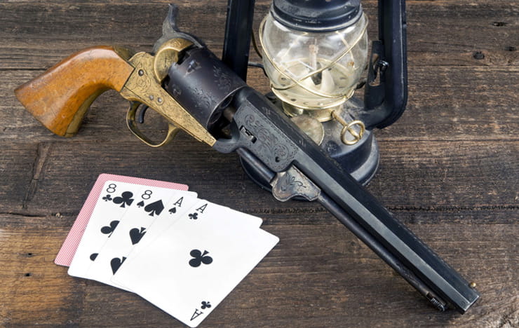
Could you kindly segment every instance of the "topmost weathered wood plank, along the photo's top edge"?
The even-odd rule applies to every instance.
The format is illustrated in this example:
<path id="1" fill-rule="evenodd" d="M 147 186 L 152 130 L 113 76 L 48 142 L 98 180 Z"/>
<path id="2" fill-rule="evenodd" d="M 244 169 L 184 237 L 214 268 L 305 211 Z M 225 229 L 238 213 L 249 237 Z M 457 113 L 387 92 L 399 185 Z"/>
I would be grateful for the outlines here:
<path id="1" fill-rule="evenodd" d="M 0 69 L 41 69 L 81 48 L 121 44 L 150 50 L 161 35 L 168 1 L 17 1 L 0 4 Z M 225 1 L 175 1 L 180 27 L 220 54 Z M 376 2 L 363 1 L 376 36 Z M 255 26 L 269 1 L 257 1 Z M 407 1 L 410 65 L 519 64 L 519 7 L 513 1 Z M 129 14 L 130 13 L 130 14 Z M 71 23 L 72 22 L 72 23 Z M 192 24 L 195 22 L 195 24 Z M 483 54 L 476 55 L 476 53 Z"/>

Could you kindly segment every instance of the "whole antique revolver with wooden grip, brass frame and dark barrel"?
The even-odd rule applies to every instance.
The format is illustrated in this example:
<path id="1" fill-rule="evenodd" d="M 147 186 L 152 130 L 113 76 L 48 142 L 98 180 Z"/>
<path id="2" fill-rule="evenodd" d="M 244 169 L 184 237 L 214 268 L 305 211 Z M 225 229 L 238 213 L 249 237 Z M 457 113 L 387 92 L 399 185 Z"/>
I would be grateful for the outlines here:
<path id="1" fill-rule="evenodd" d="M 480 297 L 465 280 L 267 97 L 250 88 L 204 43 L 176 25 L 170 5 L 152 53 L 116 46 L 81 50 L 15 90 L 50 131 L 74 135 L 90 104 L 108 89 L 130 101 L 128 128 L 162 146 L 184 130 L 222 153 L 235 151 L 280 201 L 317 201 L 438 310 L 464 313 Z M 162 142 L 137 127 L 147 109 L 168 121 Z M 137 114 L 139 113 L 139 114 Z"/>

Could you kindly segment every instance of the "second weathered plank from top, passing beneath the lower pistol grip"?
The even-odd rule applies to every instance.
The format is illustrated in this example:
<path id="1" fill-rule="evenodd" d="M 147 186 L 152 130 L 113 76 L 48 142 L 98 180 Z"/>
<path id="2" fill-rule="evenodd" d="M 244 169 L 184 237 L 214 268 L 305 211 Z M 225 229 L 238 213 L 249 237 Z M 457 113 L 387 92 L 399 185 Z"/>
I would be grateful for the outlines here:
<path id="1" fill-rule="evenodd" d="M 4 72 L 6 96 L 0 104 L 0 139 L 65 140 L 53 137 L 14 97 L 13 90 L 36 75 L 34 71 Z M 257 90 L 268 92 L 269 83 L 259 69 L 250 70 L 248 81 Z M 377 130 L 379 140 L 518 139 L 519 102 L 511 91 L 519 88 L 518 68 L 410 67 L 409 81 L 406 111 L 394 125 Z M 114 91 L 101 95 L 86 114 L 79 134 L 67 142 L 135 140 L 124 125 L 127 108 L 128 102 Z"/>

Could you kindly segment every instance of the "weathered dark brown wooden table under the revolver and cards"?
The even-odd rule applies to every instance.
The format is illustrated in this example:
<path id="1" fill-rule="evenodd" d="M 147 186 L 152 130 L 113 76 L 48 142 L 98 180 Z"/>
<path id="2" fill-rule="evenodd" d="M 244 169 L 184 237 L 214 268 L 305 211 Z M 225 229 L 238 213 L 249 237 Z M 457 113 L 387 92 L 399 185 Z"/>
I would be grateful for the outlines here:
<path id="1" fill-rule="evenodd" d="M 180 27 L 220 54 L 227 1 L 175 2 Z M 256 27 L 269 2 L 257 1 Z M 16 86 L 81 48 L 151 50 L 167 4 L 0 3 L 1 326 L 183 327 L 135 294 L 53 264 L 97 175 L 109 172 L 188 184 L 262 217 L 281 239 L 201 327 L 518 327 L 518 2 L 408 1 L 407 110 L 376 131 L 381 163 L 368 189 L 477 283 L 481 299 L 465 315 L 431 308 L 323 207 L 276 202 L 236 155 L 185 134 L 145 146 L 126 130 L 127 104 L 113 91 L 71 139 L 15 100 Z M 363 6 L 375 36 L 376 1 Z M 268 91 L 259 69 L 248 82 Z"/>

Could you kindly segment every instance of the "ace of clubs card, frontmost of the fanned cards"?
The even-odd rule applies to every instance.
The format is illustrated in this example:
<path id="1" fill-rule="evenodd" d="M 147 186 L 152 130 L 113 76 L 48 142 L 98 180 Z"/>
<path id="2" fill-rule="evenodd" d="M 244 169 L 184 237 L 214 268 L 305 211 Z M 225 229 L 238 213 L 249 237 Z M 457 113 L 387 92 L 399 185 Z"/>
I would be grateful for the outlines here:
<path id="1" fill-rule="evenodd" d="M 113 280 L 196 327 L 279 240 L 250 224 L 236 224 L 243 222 L 243 213 L 219 210 L 204 221 L 189 218 L 194 211 L 188 211 L 121 266 Z"/>

